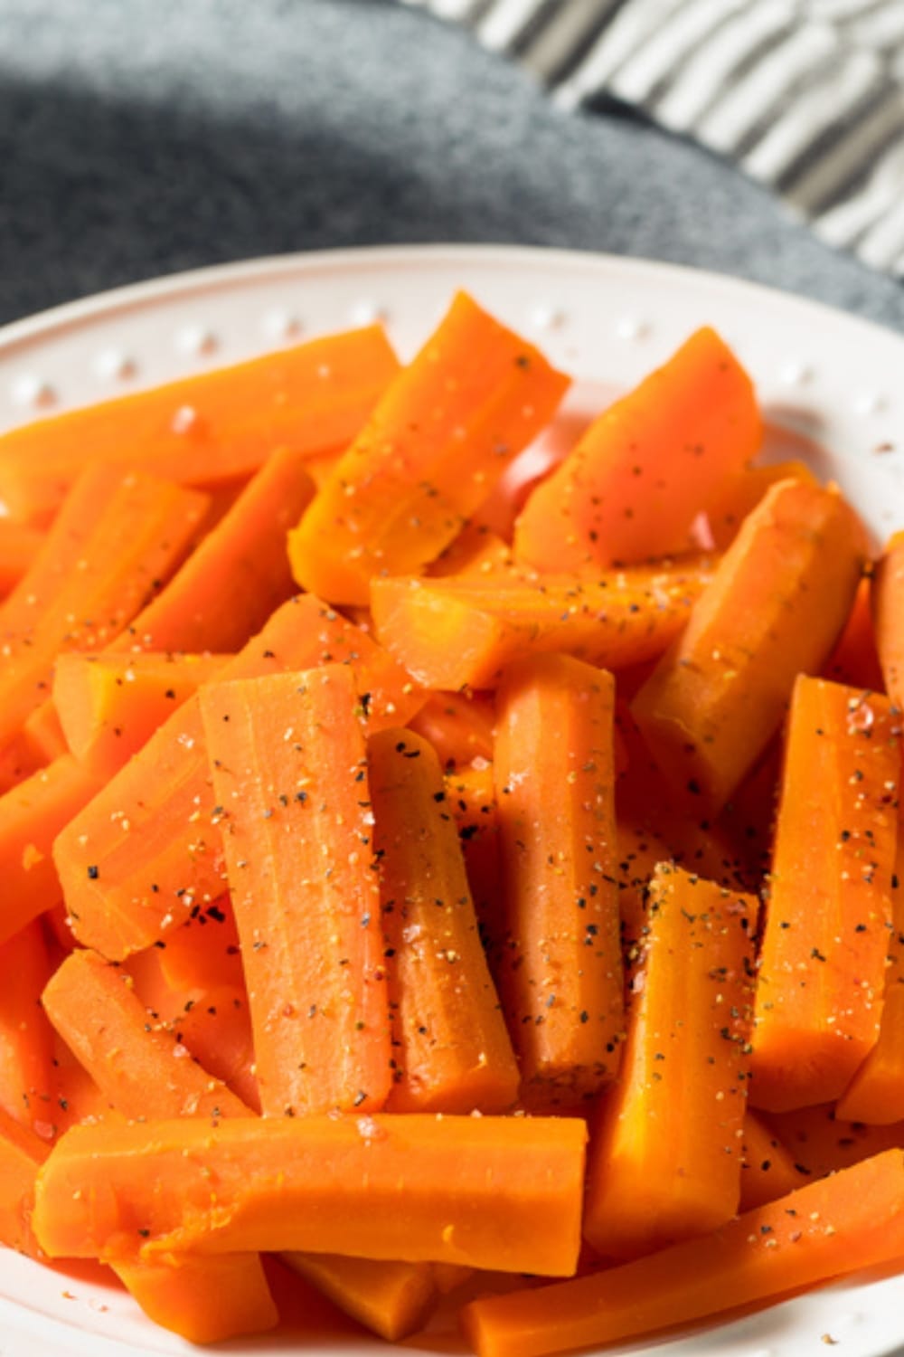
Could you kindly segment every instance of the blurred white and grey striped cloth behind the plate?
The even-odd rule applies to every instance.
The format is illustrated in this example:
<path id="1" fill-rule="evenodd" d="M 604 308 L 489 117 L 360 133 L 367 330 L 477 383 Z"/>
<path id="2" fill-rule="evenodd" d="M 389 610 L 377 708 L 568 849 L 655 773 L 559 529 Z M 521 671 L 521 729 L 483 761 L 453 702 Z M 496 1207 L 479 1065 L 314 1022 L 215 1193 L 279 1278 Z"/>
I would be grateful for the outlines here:
<path id="1" fill-rule="evenodd" d="M 904 0 L 405 0 L 733 160 L 828 243 L 904 277 Z"/>

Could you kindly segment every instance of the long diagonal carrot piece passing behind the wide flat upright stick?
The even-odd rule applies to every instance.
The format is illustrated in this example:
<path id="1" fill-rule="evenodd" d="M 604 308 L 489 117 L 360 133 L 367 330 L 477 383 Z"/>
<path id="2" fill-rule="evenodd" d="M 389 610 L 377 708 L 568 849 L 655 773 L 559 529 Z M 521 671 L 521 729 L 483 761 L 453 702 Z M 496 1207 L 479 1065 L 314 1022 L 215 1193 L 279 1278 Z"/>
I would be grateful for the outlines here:
<path id="1" fill-rule="evenodd" d="M 351 668 L 370 730 L 404 725 L 423 702 L 381 646 L 313 594 L 283 604 L 220 677 L 327 662 Z M 54 859 L 79 940 L 122 961 L 186 923 L 195 905 L 218 900 L 225 886 L 214 810 L 195 696 L 57 837 Z"/>

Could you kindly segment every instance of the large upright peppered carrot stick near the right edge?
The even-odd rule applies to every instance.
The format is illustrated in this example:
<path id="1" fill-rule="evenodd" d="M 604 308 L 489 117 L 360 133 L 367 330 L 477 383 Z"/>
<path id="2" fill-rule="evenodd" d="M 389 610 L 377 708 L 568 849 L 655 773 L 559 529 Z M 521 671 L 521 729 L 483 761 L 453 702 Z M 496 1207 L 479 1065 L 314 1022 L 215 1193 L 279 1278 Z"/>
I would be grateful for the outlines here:
<path id="1" fill-rule="evenodd" d="M 900 733 L 888 697 L 797 680 L 756 991 L 756 1107 L 838 1098 L 876 1046 Z"/>

